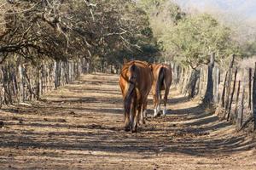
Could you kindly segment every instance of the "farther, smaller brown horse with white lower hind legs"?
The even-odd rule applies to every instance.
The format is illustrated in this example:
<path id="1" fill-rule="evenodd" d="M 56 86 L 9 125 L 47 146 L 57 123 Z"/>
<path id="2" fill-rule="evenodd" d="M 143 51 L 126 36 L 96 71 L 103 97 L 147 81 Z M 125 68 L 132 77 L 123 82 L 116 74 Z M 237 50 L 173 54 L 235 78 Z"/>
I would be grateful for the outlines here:
<path id="1" fill-rule="evenodd" d="M 165 90 L 163 115 L 166 116 L 166 103 L 172 83 L 172 68 L 166 64 L 153 64 L 154 82 L 152 86 L 154 98 L 154 116 L 160 113 L 161 90 Z"/>

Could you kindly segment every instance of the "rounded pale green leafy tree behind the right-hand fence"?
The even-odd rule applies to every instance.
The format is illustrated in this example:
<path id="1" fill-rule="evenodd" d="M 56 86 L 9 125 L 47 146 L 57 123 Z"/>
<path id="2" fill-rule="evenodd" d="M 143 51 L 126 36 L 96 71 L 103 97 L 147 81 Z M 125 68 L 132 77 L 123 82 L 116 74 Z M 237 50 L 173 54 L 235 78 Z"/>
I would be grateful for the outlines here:
<path id="1" fill-rule="evenodd" d="M 239 51 L 230 39 L 230 28 L 222 26 L 209 14 L 189 16 L 172 26 L 161 37 L 164 48 L 184 65 L 196 68 L 207 64 L 209 54 L 221 61 Z"/>

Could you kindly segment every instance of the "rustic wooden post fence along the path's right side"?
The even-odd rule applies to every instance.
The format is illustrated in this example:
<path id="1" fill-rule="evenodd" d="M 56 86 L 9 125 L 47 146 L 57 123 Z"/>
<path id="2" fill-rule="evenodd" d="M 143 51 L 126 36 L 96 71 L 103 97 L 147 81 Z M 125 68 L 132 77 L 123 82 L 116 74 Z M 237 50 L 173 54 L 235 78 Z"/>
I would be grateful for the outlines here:
<path id="1" fill-rule="evenodd" d="M 251 121 L 254 121 L 254 128 L 256 128 L 256 64 L 254 68 L 234 68 L 234 61 L 235 55 L 231 57 L 227 71 L 214 63 L 213 67 L 208 65 L 208 67 L 197 68 L 195 73 L 197 78 L 195 79 L 191 78 L 195 77 L 191 74 L 193 69 L 188 66 L 172 64 L 175 75 L 173 77 L 174 86 L 184 95 L 200 98 L 203 104 L 207 102 L 206 97 L 209 98 L 211 105 L 216 109 L 215 114 L 222 119 L 236 123 L 238 129 L 245 127 Z M 178 71 L 177 67 L 182 71 L 181 74 L 175 73 Z M 191 83 L 194 83 L 195 86 L 189 86 Z M 207 96 L 209 95 L 207 90 L 210 90 L 210 96 Z M 195 95 L 191 96 L 187 92 L 195 92 Z"/>

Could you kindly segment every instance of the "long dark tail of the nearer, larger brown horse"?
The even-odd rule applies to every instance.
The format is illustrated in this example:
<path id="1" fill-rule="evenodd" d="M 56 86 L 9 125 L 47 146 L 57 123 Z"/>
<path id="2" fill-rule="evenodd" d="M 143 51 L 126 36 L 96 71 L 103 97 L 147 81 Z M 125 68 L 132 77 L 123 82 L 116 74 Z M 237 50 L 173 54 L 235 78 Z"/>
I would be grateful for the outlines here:
<path id="1" fill-rule="evenodd" d="M 126 92 L 125 92 L 125 114 L 130 114 L 131 111 L 131 102 L 132 102 L 132 97 L 136 95 L 136 81 L 137 81 L 137 67 L 135 64 L 132 64 L 129 68 L 129 71 L 131 73 L 131 76 L 129 77 L 128 80 L 128 85 L 126 87 Z M 133 101 L 134 102 L 134 101 Z"/>

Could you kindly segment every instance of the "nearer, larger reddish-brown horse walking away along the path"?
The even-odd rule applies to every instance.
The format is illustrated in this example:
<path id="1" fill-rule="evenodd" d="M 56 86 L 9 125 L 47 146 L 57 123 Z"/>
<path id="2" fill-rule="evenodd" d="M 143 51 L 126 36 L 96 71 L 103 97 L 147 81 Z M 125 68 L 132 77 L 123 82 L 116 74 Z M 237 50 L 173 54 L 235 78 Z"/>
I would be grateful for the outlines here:
<path id="1" fill-rule="evenodd" d="M 134 60 L 123 65 L 119 86 L 125 107 L 125 131 L 137 131 L 137 123 L 144 122 L 148 94 L 152 87 L 153 74 L 147 62 Z M 143 113 L 141 113 L 143 108 Z"/>

